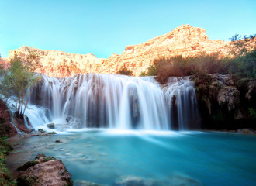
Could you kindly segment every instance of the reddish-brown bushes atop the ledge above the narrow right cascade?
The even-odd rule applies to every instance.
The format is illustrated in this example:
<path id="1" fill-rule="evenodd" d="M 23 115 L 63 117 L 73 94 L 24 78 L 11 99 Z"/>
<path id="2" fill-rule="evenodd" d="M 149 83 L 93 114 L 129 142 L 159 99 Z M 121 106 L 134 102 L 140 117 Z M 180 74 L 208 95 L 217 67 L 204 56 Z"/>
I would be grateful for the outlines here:
<path id="1" fill-rule="evenodd" d="M 227 74 L 230 60 L 220 53 L 201 53 L 195 57 L 161 57 L 148 67 L 147 75 L 156 75 L 157 81 L 164 83 L 168 77 L 189 76 L 193 74 Z"/>

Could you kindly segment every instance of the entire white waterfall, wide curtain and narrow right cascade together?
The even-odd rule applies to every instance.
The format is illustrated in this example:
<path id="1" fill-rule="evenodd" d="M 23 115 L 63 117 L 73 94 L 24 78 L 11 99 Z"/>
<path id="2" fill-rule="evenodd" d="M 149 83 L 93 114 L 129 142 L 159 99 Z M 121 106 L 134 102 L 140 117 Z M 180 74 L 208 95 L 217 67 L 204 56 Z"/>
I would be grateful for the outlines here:
<path id="1" fill-rule="evenodd" d="M 195 128 L 199 124 L 195 88 L 189 77 L 170 77 L 165 93 L 154 77 L 42 77 L 26 109 L 35 129 L 47 129 L 49 122 L 61 130 L 168 130 Z"/>

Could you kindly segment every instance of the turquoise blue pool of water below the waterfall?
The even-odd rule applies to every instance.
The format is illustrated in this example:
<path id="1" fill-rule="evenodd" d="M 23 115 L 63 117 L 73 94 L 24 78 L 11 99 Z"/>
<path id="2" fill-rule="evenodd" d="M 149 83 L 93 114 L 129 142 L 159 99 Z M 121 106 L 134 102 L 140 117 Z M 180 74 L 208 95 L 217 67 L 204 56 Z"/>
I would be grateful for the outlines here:
<path id="1" fill-rule="evenodd" d="M 256 136 L 102 130 L 35 136 L 12 144 L 16 149 L 9 161 L 14 167 L 45 153 L 64 162 L 74 183 L 115 185 L 133 176 L 155 181 L 134 185 L 256 185 Z"/>

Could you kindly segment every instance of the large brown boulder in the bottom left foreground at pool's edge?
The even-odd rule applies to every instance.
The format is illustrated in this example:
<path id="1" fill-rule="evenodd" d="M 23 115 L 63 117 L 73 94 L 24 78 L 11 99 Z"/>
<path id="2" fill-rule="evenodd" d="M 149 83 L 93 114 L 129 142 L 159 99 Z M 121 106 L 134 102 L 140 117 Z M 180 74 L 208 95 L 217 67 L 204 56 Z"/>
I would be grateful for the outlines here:
<path id="1" fill-rule="evenodd" d="M 17 179 L 18 186 L 71 186 L 71 174 L 61 160 L 38 154 L 33 164 L 22 165 Z M 29 164 L 28 164 L 29 163 Z"/>

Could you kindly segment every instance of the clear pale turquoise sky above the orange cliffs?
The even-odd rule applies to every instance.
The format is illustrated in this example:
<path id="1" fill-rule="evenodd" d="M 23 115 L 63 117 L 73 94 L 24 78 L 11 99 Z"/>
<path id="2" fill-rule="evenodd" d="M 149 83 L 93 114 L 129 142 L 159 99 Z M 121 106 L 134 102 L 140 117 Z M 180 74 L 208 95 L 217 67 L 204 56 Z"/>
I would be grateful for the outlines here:
<path id="1" fill-rule="evenodd" d="M 0 0 L 0 53 L 23 45 L 109 57 L 182 24 L 210 40 L 256 33 L 256 0 Z"/>

